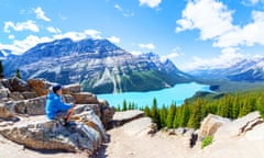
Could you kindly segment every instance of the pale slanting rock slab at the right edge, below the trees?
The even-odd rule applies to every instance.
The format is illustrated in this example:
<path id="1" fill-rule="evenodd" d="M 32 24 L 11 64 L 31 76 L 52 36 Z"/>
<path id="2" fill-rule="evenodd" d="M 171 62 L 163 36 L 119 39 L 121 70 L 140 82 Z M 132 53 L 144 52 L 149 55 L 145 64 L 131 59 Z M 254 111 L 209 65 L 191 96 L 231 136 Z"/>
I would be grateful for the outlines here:
<path id="1" fill-rule="evenodd" d="M 215 134 L 215 139 L 223 139 L 230 137 L 237 137 L 244 135 L 248 131 L 251 131 L 257 124 L 262 124 L 263 119 L 260 112 L 252 112 L 243 117 L 240 117 L 233 122 L 224 124 Z"/>

